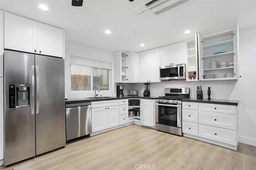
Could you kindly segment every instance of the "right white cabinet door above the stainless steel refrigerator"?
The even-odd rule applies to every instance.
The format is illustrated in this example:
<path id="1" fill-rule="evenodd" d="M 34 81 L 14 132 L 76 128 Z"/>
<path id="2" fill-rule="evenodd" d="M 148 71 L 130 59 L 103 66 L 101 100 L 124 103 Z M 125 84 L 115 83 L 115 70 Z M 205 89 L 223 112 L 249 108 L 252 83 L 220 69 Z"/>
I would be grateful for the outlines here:
<path id="1" fill-rule="evenodd" d="M 38 22 L 39 53 L 63 57 L 63 42 L 64 30 Z"/>

